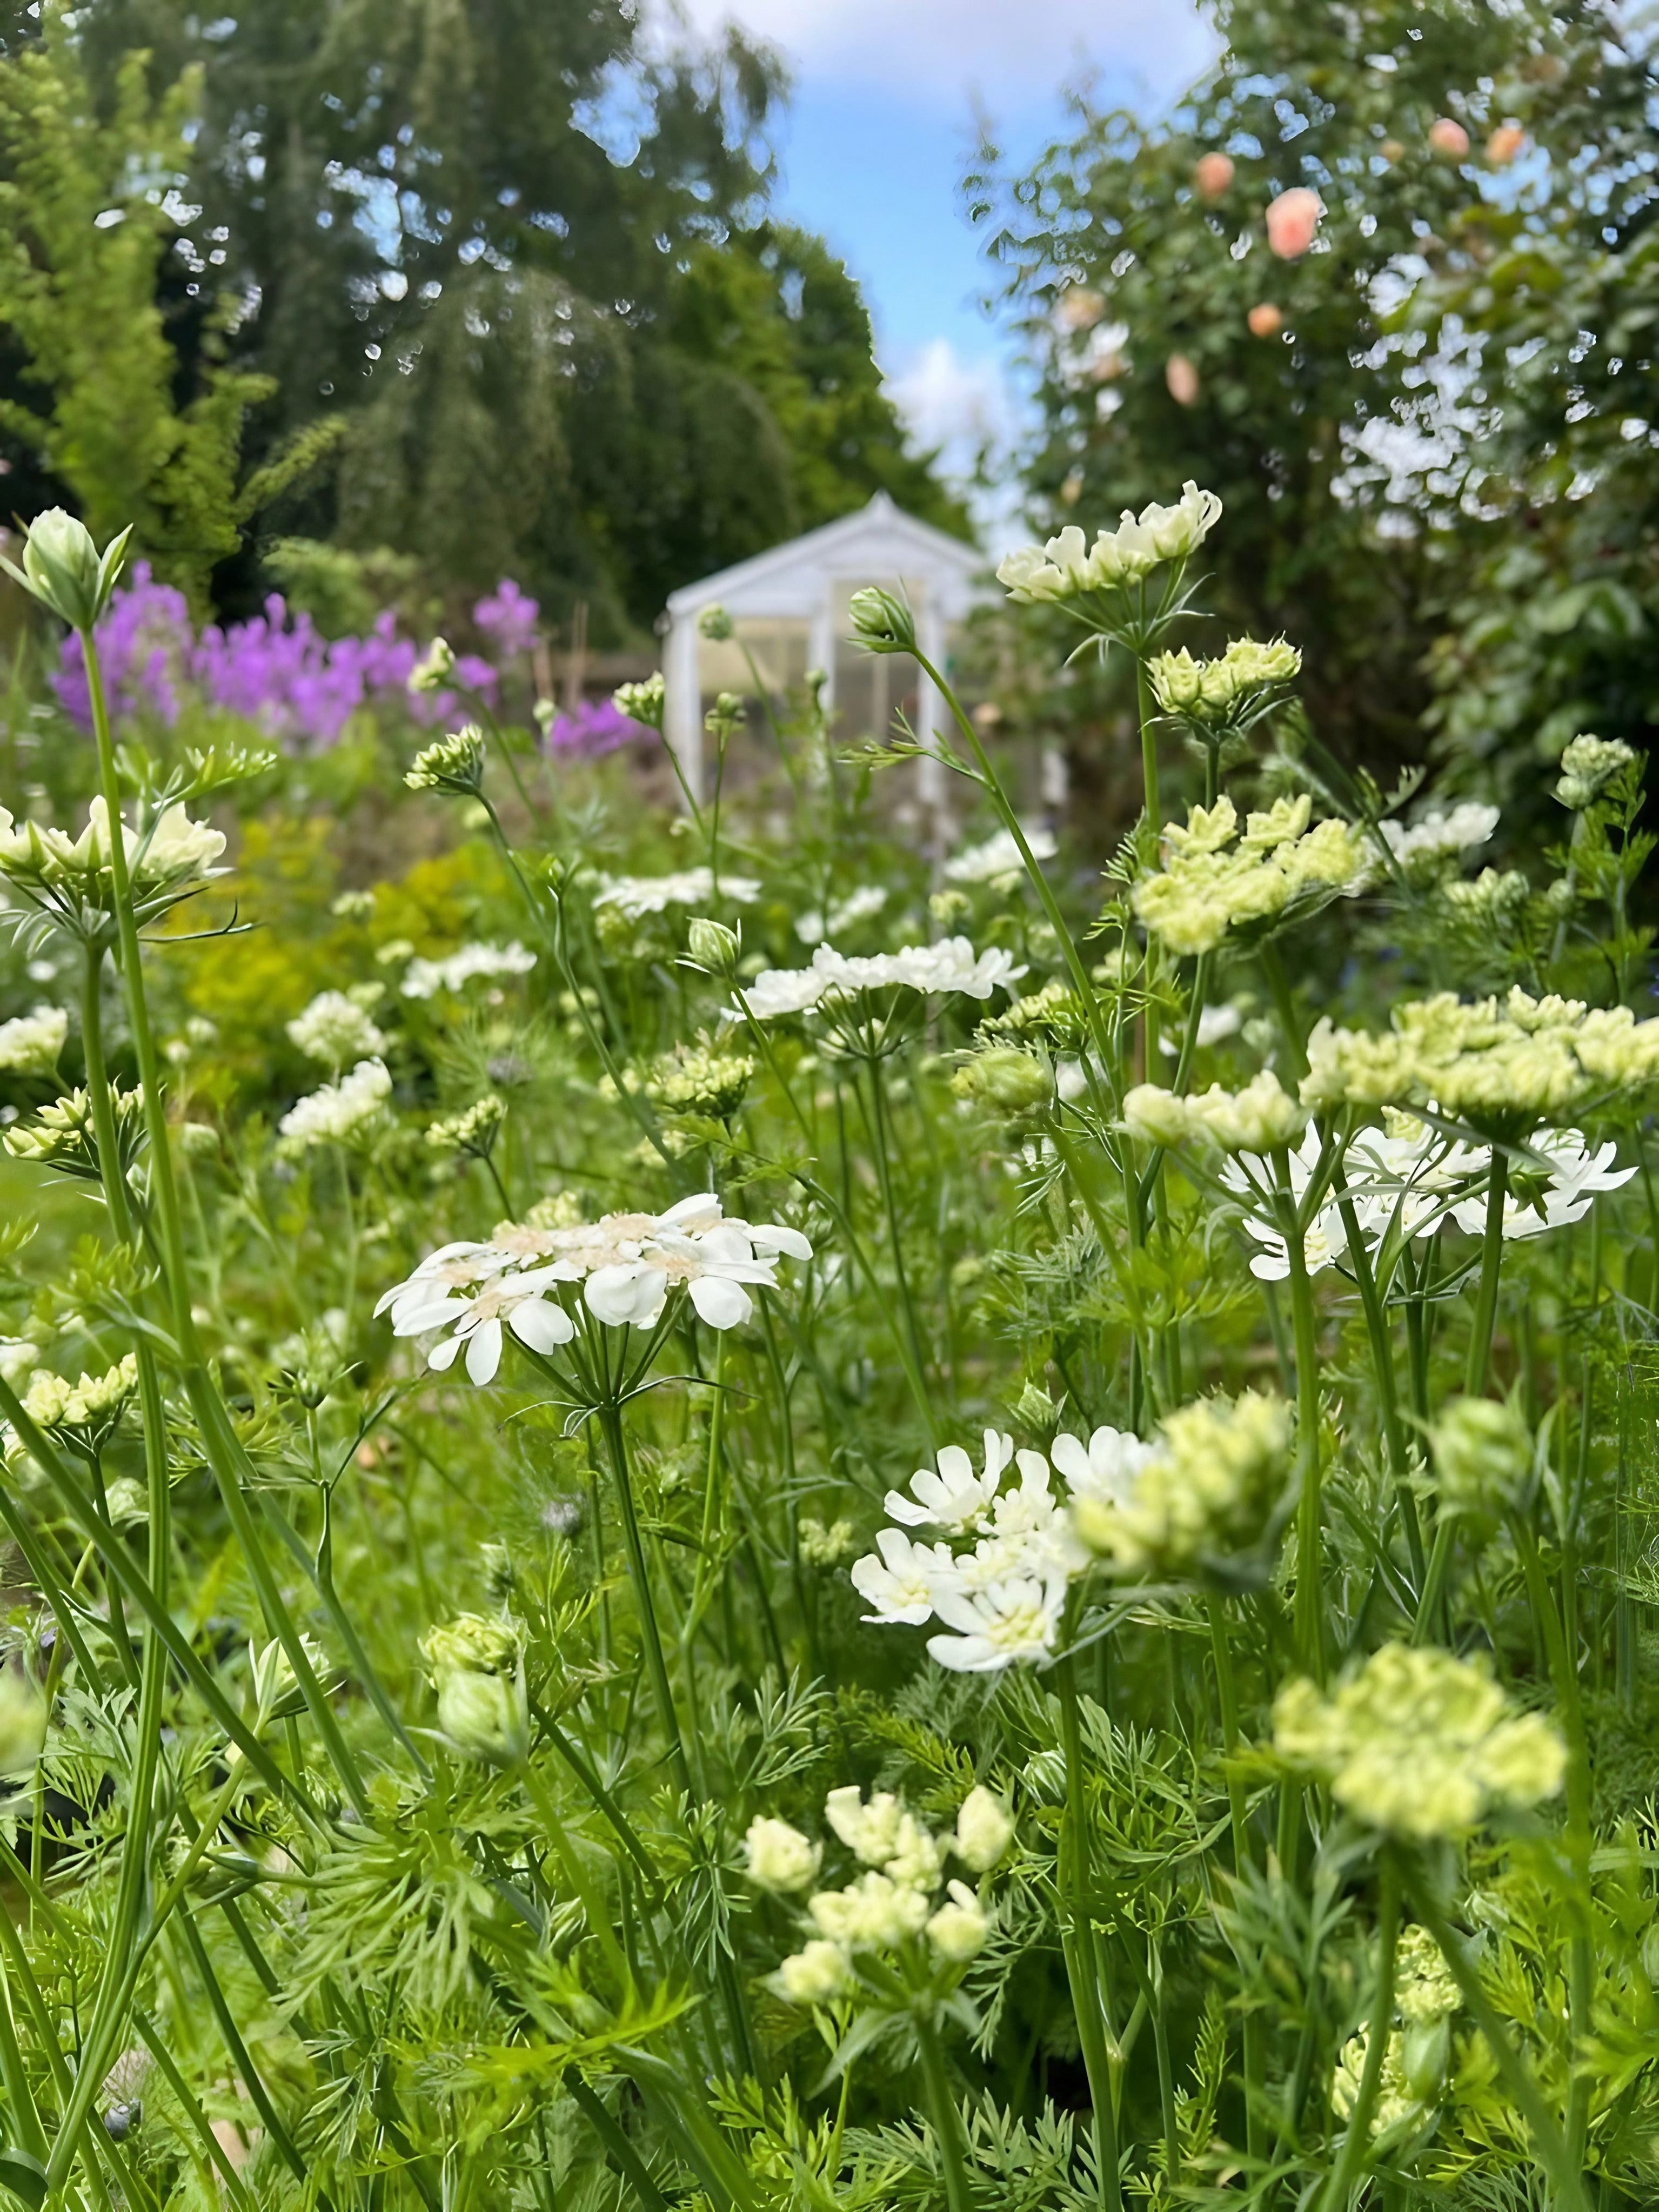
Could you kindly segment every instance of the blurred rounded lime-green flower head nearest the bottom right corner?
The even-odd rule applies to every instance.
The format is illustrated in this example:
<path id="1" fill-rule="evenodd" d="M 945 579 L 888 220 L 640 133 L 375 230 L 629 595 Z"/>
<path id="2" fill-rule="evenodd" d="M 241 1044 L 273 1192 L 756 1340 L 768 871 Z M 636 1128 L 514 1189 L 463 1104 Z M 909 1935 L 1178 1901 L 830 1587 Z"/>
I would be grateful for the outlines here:
<path id="1" fill-rule="evenodd" d="M 1540 1805 L 1566 1774 L 1555 1728 L 1517 1714 L 1484 1666 L 1407 1644 L 1385 1644 L 1329 1699 L 1312 1681 L 1287 1683 L 1274 1750 L 1356 1820 L 1413 1843 Z"/>

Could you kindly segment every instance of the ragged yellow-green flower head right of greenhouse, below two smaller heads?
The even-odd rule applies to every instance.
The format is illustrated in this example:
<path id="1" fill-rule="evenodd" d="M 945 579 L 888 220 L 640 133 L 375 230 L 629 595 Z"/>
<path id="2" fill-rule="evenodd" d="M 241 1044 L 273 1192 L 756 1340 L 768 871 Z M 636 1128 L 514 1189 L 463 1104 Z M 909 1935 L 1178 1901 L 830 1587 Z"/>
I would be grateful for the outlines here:
<path id="1" fill-rule="evenodd" d="M 1272 925 L 1298 898 L 1358 887 L 1369 858 L 1358 832 L 1327 818 L 1310 830 L 1312 799 L 1276 799 L 1245 818 L 1230 799 L 1192 807 L 1164 832 L 1168 858 L 1135 885 L 1135 918 L 1172 953 L 1208 953 L 1230 929 Z"/>

